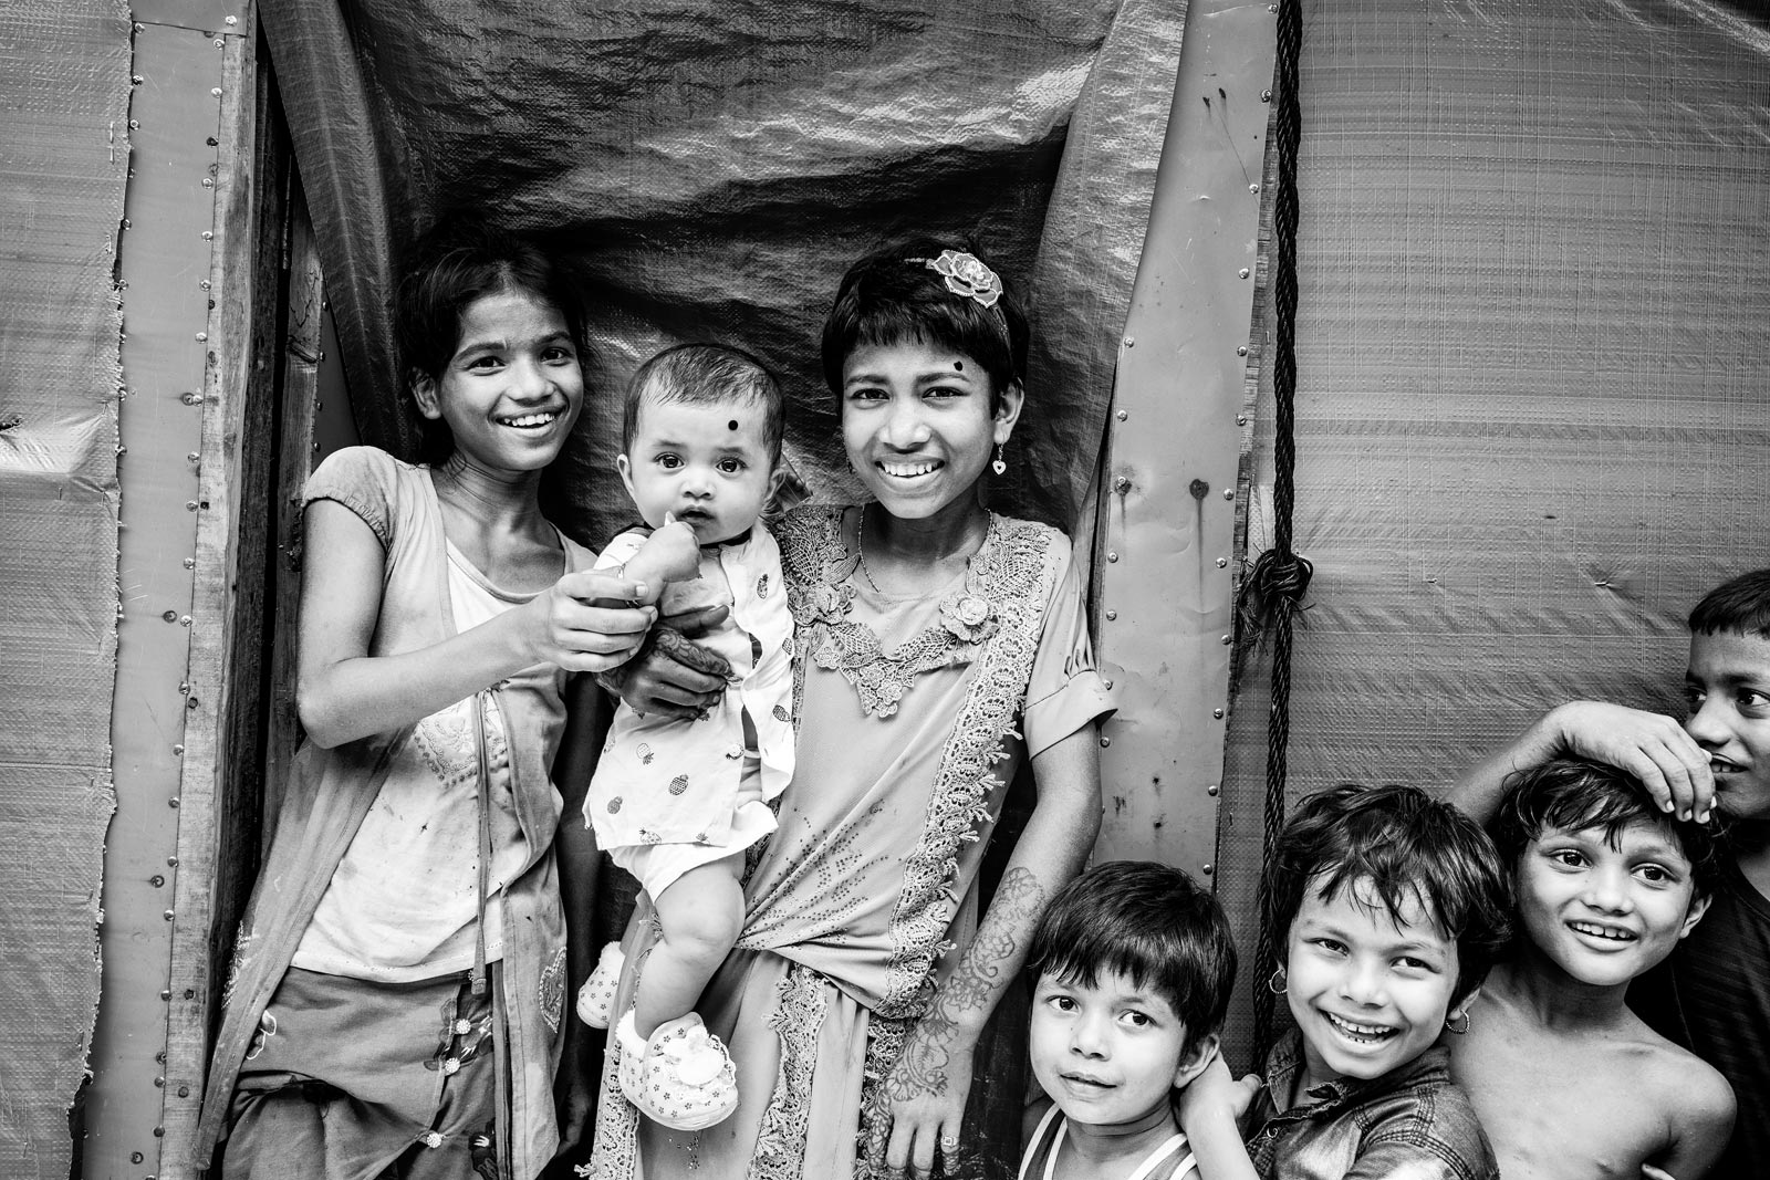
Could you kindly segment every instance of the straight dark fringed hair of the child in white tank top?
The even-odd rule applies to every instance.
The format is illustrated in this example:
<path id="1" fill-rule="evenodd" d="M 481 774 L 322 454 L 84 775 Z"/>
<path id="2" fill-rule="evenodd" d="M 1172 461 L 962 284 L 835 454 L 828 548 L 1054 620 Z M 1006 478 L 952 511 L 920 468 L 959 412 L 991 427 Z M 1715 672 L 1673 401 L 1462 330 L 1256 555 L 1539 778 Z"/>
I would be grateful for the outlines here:
<path id="1" fill-rule="evenodd" d="M 1092 987 L 1101 971 L 1149 987 L 1186 1023 L 1186 1051 L 1223 1028 L 1235 939 L 1216 897 L 1168 865 L 1115 860 L 1066 885 L 1039 918 L 1027 969 Z"/>

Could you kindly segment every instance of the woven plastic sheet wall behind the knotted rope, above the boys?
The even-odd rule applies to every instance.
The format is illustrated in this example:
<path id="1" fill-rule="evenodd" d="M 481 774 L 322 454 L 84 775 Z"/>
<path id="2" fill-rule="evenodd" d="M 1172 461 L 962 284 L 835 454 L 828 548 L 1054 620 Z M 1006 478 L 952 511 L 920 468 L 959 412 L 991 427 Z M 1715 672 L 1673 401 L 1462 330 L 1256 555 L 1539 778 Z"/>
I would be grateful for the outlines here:
<path id="1" fill-rule="evenodd" d="M 1680 711 L 1770 564 L 1763 5 L 1303 5 L 1289 794 L 1441 787 L 1545 708 Z M 1271 538 L 1271 391 L 1250 552 Z M 1267 653 L 1220 888 L 1255 931 Z M 1269 964 L 1243 968 L 1243 996 Z M 1241 1061 L 1237 1061 L 1237 1067 Z"/>

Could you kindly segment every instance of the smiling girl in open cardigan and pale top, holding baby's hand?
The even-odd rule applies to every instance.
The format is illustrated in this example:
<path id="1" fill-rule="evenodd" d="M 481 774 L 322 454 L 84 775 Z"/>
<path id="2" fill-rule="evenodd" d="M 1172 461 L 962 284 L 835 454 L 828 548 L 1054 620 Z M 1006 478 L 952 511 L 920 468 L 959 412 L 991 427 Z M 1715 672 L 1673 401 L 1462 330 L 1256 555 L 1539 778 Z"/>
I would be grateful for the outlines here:
<path id="1" fill-rule="evenodd" d="M 466 221 L 418 258 L 398 343 L 435 464 L 352 448 L 304 494 L 306 741 L 209 1070 L 223 1176 L 527 1178 L 558 1145 L 568 681 L 653 612 L 591 605 L 646 587 L 540 513 L 584 402 L 565 276 Z"/>

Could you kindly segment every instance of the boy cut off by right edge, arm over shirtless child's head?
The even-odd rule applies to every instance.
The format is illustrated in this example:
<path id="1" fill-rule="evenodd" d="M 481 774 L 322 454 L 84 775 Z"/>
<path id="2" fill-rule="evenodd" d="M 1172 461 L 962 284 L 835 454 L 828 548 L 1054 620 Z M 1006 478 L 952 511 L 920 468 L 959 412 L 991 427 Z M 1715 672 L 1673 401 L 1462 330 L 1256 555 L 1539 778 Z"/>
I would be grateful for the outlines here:
<path id="1" fill-rule="evenodd" d="M 1471 770 L 1455 798 L 1489 816 L 1508 775 L 1575 755 L 1628 771 L 1678 819 L 1726 817 L 1708 913 L 1628 1005 L 1733 1086 L 1733 1138 L 1710 1178 L 1758 1180 L 1770 1161 L 1770 570 L 1724 582 L 1690 612 L 1685 695 L 1682 727 L 1602 701 L 1558 706 Z"/>

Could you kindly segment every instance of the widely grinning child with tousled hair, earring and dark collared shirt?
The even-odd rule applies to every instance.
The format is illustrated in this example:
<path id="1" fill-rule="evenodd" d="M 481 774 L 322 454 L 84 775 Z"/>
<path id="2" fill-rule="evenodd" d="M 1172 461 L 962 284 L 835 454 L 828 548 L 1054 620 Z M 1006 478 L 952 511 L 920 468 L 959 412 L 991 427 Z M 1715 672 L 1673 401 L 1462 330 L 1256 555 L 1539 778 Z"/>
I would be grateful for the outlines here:
<path id="1" fill-rule="evenodd" d="M 1258 969 L 1296 1028 L 1264 1079 L 1220 1058 L 1181 1095 L 1205 1180 L 1497 1180 L 1437 1046 L 1506 941 L 1492 840 L 1418 787 L 1340 785 L 1297 803 L 1266 886 Z"/>

